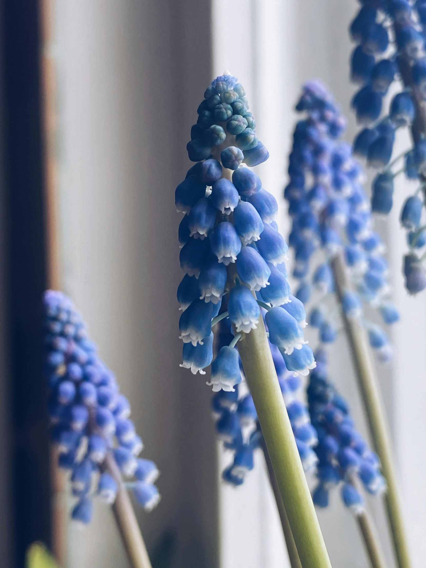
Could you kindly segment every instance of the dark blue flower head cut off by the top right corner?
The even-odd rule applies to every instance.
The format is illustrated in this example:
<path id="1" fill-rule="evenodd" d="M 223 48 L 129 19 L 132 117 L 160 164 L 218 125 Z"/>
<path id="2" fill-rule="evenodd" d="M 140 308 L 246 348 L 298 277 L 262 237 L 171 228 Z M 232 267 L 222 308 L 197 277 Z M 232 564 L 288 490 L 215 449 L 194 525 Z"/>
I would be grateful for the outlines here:
<path id="1" fill-rule="evenodd" d="M 426 226 L 421 223 L 426 173 L 425 132 L 414 126 L 417 108 L 426 100 L 425 26 L 426 0 L 380 0 L 362 2 L 362 7 L 350 25 L 350 35 L 358 45 L 350 63 L 352 81 L 360 85 L 352 106 L 358 123 L 365 128 L 354 141 L 354 153 L 367 164 L 381 171 L 371 187 L 371 208 L 380 215 L 389 214 L 393 204 L 394 178 L 405 172 L 408 179 L 420 179 L 419 189 L 404 202 L 400 222 L 407 230 L 410 248 L 404 258 L 406 288 L 417 294 L 426 287 L 423 257 L 417 252 L 426 245 Z M 401 78 L 404 90 L 392 99 L 389 112 L 380 118 L 391 83 Z M 390 163 L 395 131 L 411 127 L 414 147 Z M 404 158 L 399 172 L 392 166 Z"/>

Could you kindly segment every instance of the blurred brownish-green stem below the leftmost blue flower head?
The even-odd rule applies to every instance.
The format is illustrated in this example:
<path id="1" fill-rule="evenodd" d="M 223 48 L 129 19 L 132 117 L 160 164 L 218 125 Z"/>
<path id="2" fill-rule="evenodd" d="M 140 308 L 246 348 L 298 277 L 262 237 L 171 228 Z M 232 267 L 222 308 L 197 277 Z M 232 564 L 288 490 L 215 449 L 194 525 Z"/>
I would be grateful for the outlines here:
<path id="1" fill-rule="evenodd" d="M 118 492 L 112 505 L 112 511 L 131 568 L 152 568 L 144 539 L 137 524 L 135 511 L 133 511 L 122 475 L 111 452 L 107 453 L 103 462 L 103 471 L 111 474 L 118 484 Z"/>

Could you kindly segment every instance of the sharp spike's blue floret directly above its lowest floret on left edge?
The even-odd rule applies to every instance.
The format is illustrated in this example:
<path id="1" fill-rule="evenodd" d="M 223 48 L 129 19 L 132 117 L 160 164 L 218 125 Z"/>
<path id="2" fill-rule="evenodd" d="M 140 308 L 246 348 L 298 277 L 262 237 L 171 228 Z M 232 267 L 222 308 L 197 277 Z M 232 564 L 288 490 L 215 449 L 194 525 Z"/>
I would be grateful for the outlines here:
<path id="1" fill-rule="evenodd" d="M 179 331 L 183 343 L 198 343 L 203 345 L 204 337 L 208 337 L 211 331 L 211 320 L 218 315 L 220 304 L 204 302 L 196 299 L 191 302 L 179 319 Z"/>

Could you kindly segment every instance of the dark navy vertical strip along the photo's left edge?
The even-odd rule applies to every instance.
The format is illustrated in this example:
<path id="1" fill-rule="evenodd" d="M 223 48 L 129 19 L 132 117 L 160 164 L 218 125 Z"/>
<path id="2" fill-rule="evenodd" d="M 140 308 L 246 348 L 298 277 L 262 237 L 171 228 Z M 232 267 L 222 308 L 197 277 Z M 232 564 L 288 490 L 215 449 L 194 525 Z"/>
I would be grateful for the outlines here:
<path id="1" fill-rule="evenodd" d="M 40 31 L 36 0 L 3 0 L 2 218 L 5 235 L 5 342 L 9 392 L 11 566 L 28 545 L 50 544 L 49 453 L 41 360 L 46 285 Z"/>

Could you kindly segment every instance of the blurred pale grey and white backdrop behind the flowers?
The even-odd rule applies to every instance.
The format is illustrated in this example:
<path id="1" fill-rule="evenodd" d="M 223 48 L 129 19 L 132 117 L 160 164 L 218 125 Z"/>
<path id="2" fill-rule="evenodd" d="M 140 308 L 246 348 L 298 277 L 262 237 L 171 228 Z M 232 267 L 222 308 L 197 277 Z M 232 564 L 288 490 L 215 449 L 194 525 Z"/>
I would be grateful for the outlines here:
<path id="1" fill-rule="evenodd" d="M 353 139 L 347 29 L 358 3 L 56 0 L 52 6 L 53 33 L 45 49 L 56 67 L 62 289 L 81 310 L 101 357 L 131 400 L 144 456 L 162 472 L 160 506 L 149 515 L 136 507 L 153 568 L 286 566 L 261 454 L 243 486 L 220 483 L 227 456 L 215 441 L 211 391 L 206 378 L 178 366 L 181 216 L 173 192 L 190 167 L 185 147 L 204 90 L 228 69 L 244 85 L 258 135 L 269 149 L 258 174 L 277 198 L 278 224 L 288 235 L 282 191 L 293 107 L 304 81 L 327 83 L 349 118 L 346 140 Z M 398 136 L 396 152 L 408 145 Z M 390 222 L 377 226 L 388 246 L 394 301 L 403 317 L 393 331 L 394 362 L 381 367 L 379 377 L 412 558 L 422 568 L 426 297 L 409 298 L 403 288 L 405 245 L 397 213 L 402 188 L 395 193 Z M 366 435 L 344 338 L 333 355 L 331 377 Z M 6 499 L 7 481 L 0 485 Z M 382 507 L 371 502 L 371 509 L 392 566 Z M 357 527 L 339 496 L 318 514 L 332 565 L 366 566 Z M 6 554 L 10 542 L 4 540 Z M 68 568 L 128 566 L 107 506 L 96 503 L 85 532 L 69 527 L 68 557 Z"/>

